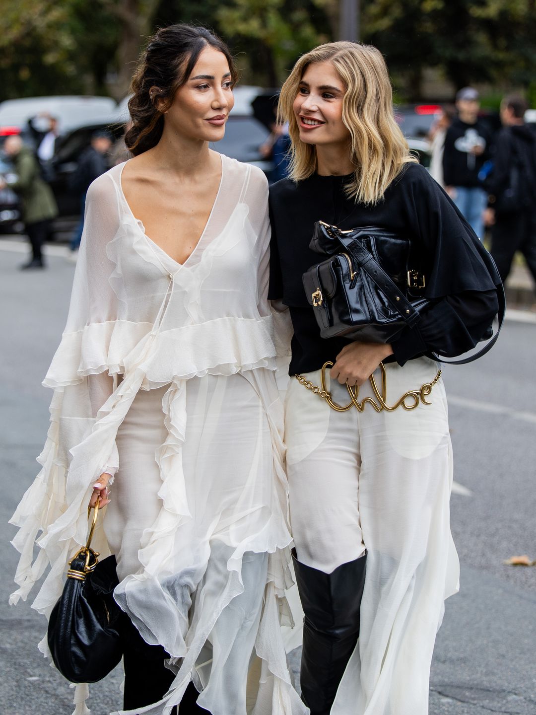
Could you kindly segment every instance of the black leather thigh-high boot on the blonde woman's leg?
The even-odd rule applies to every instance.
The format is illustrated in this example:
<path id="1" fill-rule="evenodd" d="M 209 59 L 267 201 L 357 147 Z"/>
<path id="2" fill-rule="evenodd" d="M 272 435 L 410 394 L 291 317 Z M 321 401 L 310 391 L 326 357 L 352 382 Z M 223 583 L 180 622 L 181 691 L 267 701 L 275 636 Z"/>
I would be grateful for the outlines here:
<path id="1" fill-rule="evenodd" d="M 332 573 L 305 566 L 292 549 L 304 610 L 302 700 L 311 715 L 329 715 L 339 683 L 359 637 L 367 552 Z"/>

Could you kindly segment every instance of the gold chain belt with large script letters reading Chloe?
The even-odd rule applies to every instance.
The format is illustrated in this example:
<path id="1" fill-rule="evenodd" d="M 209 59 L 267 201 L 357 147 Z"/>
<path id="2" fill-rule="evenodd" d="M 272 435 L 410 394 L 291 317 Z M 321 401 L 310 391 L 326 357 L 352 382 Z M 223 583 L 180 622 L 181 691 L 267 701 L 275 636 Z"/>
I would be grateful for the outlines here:
<path id="1" fill-rule="evenodd" d="M 437 370 L 437 375 L 431 383 L 425 383 L 424 385 L 422 385 L 420 390 L 408 390 L 407 393 L 404 393 L 404 395 L 402 395 L 402 397 L 395 405 L 389 407 L 389 405 L 387 405 L 387 403 L 385 402 L 387 398 L 387 373 L 385 371 L 384 364 L 379 363 L 379 368 L 382 371 L 381 393 L 377 388 L 376 380 L 374 380 L 374 375 L 370 375 L 369 377 L 369 383 L 372 386 L 372 391 L 378 402 L 376 402 L 374 398 L 364 398 L 364 400 L 359 402 L 359 400 L 357 399 L 359 396 L 359 385 L 354 385 L 354 387 L 351 387 L 347 383 L 346 388 L 350 396 L 350 402 L 343 407 L 342 405 L 337 405 L 337 403 L 332 400 L 332 393 L 329 393 L 326 390 L 326 370 L 327 368 L 332 368 L 333 365 L 334 363 L 331 363 L 329 361 L 322 365 L 322 371 L 320 373 L 320 383 L 322 385 L 322 388 L 319 388 L 317 385 L 313 385 L 313 383 L 310 382 L 310 380 L 304 378 L 303 375 L 294 375 L 294 378 L 296 378 L 299 383 L 302 383 L 302 385 L 304 385 L 307 390 L 311 390 L 315 395 L 318 395 L 319 398 L 322 398 L 322 400 L 326 400 L 329 407 L 333 408 L 334 410 L 337 410 L 337 412 L 346 412 L 352 407 L 359 410 L 359 412 L 362 412 L 364 410 L 364 405 L 366 405 L 367 403 L 370 403 L 374 410 L 376 410 L 377 412 L 382 412 L 382 410 L 392 412 L 398 407 L 402 407 L 405 410 L 415 410 L 415 408 L 418 407 L 420 403 L 422 403 L 423 405 L 431 405 L 432 403 L 427 402 L 426 398 L 432 393 L 432 388 L 434 387 L 435 383 L 437 383 L 437 380 L 439 380 L 441 377 L 441 370 Z M 410 401 L 410 403 L 408 404 L 406 400 L 412 401 Z"/>

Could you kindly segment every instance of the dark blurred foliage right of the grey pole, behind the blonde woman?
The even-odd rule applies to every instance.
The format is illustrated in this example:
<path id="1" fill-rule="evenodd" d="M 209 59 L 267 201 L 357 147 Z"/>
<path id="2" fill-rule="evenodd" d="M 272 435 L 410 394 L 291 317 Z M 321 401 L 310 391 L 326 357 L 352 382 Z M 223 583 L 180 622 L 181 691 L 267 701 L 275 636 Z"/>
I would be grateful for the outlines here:
<path id="1" fill-rule="evenodd" d="M 439 67 L 458 89 L 472 82 L 530 87 L 536 77 L 535 0 L 372 0 L 363 39 L 384 53 L 408 99 Z M 515 38 L 515 44 L 512 44 Z"/>

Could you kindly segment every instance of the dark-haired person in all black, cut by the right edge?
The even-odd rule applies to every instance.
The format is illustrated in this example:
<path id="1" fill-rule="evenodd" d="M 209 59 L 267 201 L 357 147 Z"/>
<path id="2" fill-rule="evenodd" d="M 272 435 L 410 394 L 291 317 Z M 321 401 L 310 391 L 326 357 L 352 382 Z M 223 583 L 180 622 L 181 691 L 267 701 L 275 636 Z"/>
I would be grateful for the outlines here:
<path id="1" fill-rule="evenodd" d="M 505 282 L 516 251 L 525 256 L 536 283 L 536 134 L 523 119 L 527 102 L 503 99 L 504 125 L 497 135 L 488 187 L 487 225 L 492 226 L 492 257 Z"/>

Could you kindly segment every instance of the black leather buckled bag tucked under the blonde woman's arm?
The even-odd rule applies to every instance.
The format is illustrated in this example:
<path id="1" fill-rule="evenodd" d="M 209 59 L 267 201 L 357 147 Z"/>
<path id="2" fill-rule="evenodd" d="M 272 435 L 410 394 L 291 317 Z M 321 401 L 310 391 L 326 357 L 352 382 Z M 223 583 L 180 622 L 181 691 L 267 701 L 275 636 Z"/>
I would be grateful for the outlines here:
<path id="1" fill-rule="evenodd" d="M 410 241 L 376 226 L 347 231 L 317 221 L 309 247 L 327 255 L 303 274 L 307 301 L 322 337 L 386 343 L 417 325 L 425 298 L 425 274 Z M 480 358 L 495 344 L 505 315 L 500 291 L 499 329 L 487 345 L 455 365 Z M 445 362 L 435 354 L 435 360 Z"/>

